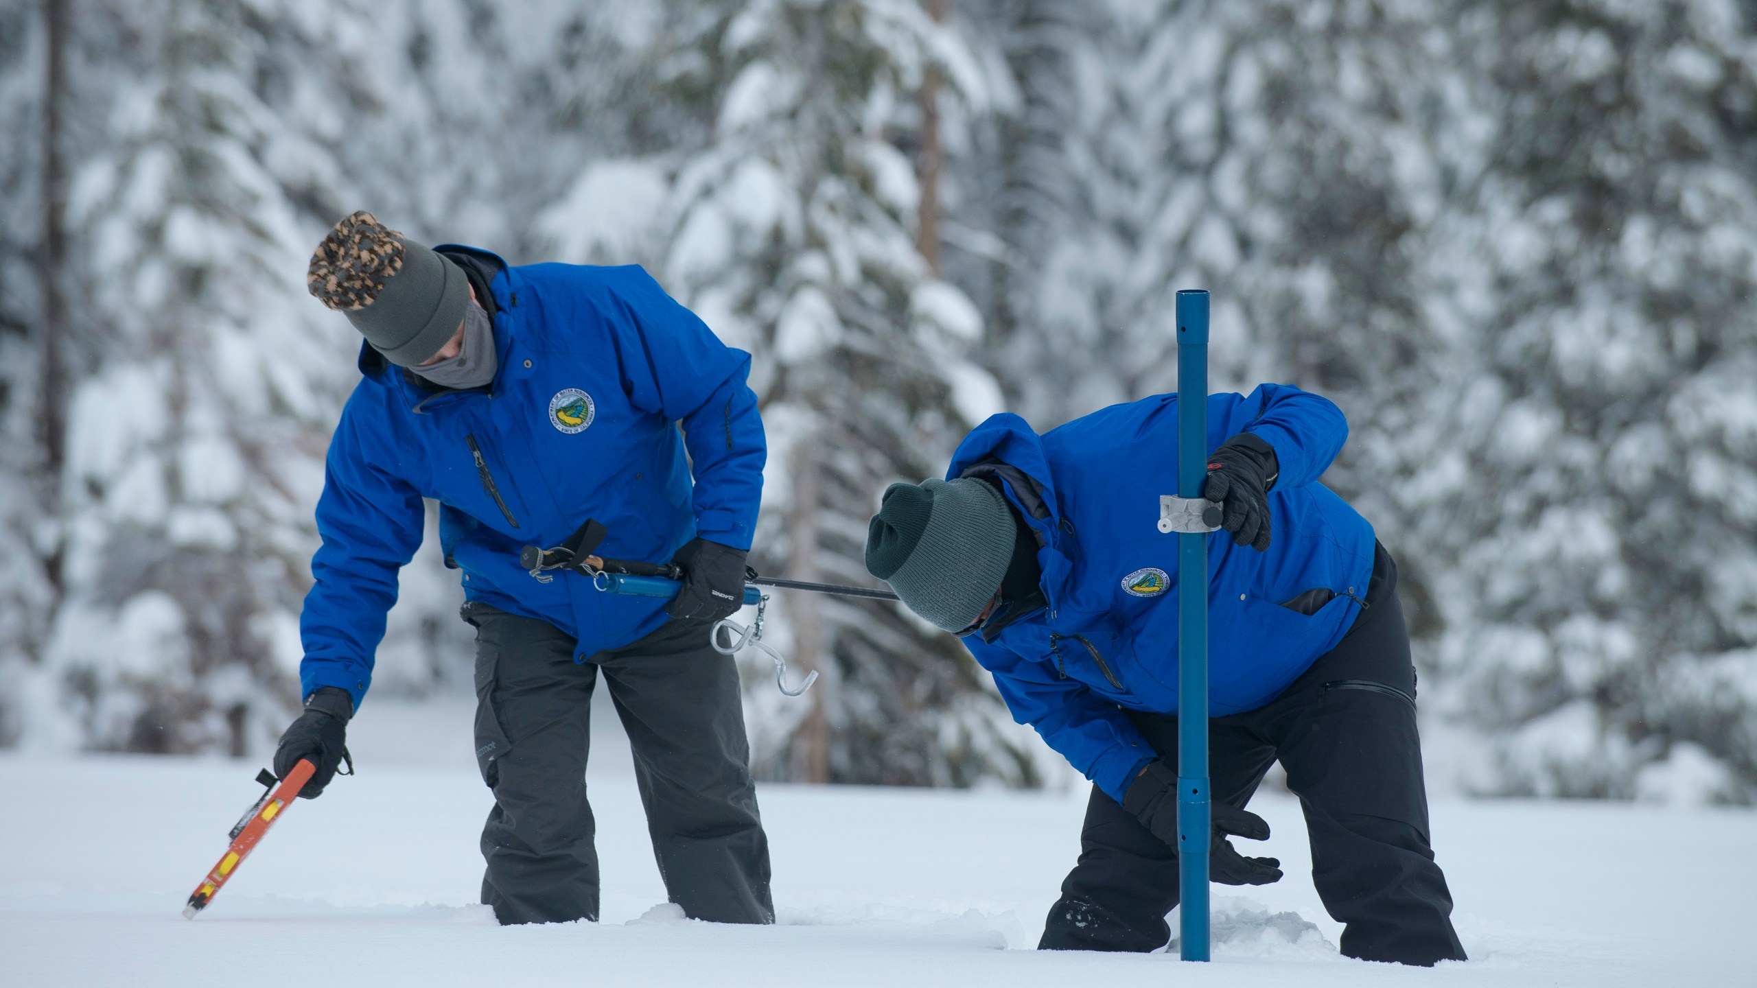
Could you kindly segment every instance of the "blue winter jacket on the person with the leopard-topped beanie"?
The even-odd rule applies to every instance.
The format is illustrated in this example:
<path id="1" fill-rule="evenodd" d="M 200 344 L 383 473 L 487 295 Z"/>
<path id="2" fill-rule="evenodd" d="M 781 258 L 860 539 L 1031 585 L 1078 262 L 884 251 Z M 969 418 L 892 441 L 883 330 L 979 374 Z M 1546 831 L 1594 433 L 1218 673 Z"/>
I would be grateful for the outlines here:
<path id="1" fill-rule="evenodd" d="M 499 373 L 490 389 L 432 392 L 374 350 L 330 441 L 316 578 L 300 617 L 304 694 L 372 679 L 397 570 L 422 543 L 422 498 L 464 596 L 548 621 L 576 661 L 641 638 L 666 601 L 604 594 L 562 573 L 543 584 L 522 545 L 550 547 L 596 519 L 611 559 L 671 559 L 694 536 L 748 548 L 766 447 L 750 355 L 720 343 L 640 267 L 506 267 L 487 251 Z M 682 431 L 678 429 L 682 425 Z M 687 450 L 687 459 L 685 459 Z M 691 483 L 694 464 L 694 483 Z"/>

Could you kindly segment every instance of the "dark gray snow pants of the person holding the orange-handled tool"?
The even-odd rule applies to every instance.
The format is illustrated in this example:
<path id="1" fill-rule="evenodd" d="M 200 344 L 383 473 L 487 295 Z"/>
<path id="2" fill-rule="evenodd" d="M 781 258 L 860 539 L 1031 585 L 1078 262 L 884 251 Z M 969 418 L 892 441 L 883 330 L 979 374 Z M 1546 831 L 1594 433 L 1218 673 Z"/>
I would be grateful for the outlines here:
<path id="1" fill-rule="evenodd" d="M 671 621 L 576 665 L 575 640 L 546 621 L 474 601 L 464 621 L 476 626 L 476 761 L 494 789 L 481 902 L 501 923 L 597 919 L 585 758 L 599 672 L 671 902 L 694 919 L 775 921 L 738 670 L 708 645 L 708 622 Z"/>

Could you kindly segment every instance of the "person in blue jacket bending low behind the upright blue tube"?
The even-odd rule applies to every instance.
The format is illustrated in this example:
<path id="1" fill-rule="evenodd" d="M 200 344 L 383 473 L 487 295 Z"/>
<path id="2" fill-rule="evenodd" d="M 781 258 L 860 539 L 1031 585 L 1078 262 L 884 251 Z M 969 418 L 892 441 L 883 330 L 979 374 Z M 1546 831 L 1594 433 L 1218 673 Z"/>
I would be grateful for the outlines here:
<path id="1" fill-rule="evenodd" d="M 1177 396 L 1038 436 L 996 415 L 945 480 L 896 483 L 866 568 L 963 636 L 1019 723 L 1093 781 L 1079 863 L 1040 949 L 1151 951 L 1177 905 Z M 1228 837 L 1270 763 L 1300 798 L 1312 881 L 1342 953 L 1464 960 L 1428 840 L 1416 673 L 1397 564 L 1318 478 L 1348 438 L 1330 401 L 1286 385 L 1209 397 L 1212 879 L 1281 879 Z"/>

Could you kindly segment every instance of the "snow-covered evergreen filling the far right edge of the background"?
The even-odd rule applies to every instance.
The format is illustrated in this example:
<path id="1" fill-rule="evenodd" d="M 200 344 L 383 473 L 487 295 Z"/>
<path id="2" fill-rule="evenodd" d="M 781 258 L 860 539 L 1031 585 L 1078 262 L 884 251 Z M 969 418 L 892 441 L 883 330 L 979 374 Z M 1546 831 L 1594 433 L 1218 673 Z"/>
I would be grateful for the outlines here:
<path id="1" fill-rule="evenodd" d="M 1481 786 L 1757 798 L 1757 44 L 1720 0 L 1460 4 L 1460 350 L 1425 536 Z"/>

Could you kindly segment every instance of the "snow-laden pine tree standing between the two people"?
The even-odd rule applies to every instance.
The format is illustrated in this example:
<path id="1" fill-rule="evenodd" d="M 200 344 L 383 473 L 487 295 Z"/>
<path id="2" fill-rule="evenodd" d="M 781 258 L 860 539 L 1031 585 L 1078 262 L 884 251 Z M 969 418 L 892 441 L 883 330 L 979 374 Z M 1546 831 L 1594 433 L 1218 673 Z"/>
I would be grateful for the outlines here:
<path id="1" fill-rule="evenodd" d="M 680 44 L 662 63 L 675 91 L 712 107 L 708 142 L 594 163 L 545 229 L 568 260 L 645 246 L 668 290 L 756 355 L 770 466 L 752 561 L 870 584 L 861 556 L 877 494 L 936 475 L 1000 404 L 966 357 L 980 316 L 915 250 L 915 172 L 887 141 L 914 125 L 929 65 L 942 98 L 975 105 L 980 74 L 915 0 L 694 2 L 669 23 Z M 661 218 L 657 230 L 631 237 L 643 214 Z M 777 594 L 770 615 L 771 640 L 824 679 L 787 701 L 752 657 L 761 775 L 1037 779 L 1033 742 L 951 636 L 891 605 L 808 594 Z"/>

